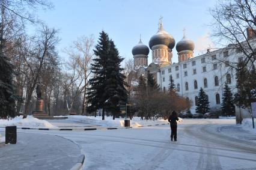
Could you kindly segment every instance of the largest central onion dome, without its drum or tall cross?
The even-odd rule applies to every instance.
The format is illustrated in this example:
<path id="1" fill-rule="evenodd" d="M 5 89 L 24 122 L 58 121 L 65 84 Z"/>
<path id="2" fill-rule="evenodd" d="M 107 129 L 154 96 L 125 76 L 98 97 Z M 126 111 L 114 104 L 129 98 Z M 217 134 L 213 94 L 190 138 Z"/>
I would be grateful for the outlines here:
<path id="1" fill-rule="evenodd" d="M 150 49 L 153 46 L 163 44 L 169 47 L 169 49 L 173 49 L 175 46 L 175 40 L 168 32 L 163 29 L 162 23 L 160 24 L 159 30 L 156 34 L 154 34 L 149 41 Z"/>

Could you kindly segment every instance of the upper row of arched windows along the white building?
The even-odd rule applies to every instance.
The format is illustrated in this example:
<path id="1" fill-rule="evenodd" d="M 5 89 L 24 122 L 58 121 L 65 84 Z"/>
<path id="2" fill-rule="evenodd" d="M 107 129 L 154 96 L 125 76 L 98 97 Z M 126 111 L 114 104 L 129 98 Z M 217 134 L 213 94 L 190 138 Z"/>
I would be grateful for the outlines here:
<path id="1" fill-rule="evenodd" d="M 228 84 L 231 84 L 231 75 L 230 74 L 227 74 L 226 75 L 226 82 Z M 215 80 L 215 86 L 219 86 L 219 77 L 218 76 L 215 76 L 214 78 Z M 163 77 L 163 82 L 165 81 L 165 77 Z M 208 87 L 208 81 L 207 81 L 207 78 L 204 78 L 204 88 L 207 88 Z M 198 85 L 197 85 L 197 80 L 194 80 L 194 89 L 198 89 Z M 188 82 L 185 82 L 185 90 L 189 90 L 189 83 Z M 177 83 L 177 91 L 180 91 L 180 83 Z"/>

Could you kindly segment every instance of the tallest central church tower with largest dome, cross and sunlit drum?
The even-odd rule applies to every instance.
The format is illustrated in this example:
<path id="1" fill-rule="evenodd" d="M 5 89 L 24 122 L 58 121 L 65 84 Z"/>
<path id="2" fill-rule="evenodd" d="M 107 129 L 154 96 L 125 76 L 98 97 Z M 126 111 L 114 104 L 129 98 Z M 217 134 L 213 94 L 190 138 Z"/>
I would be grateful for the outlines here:
<path id="1" fill-rule="evenodd" d="M 160 17 L 158 31 L 149 41 L 149 46 L 152 50 L 152 62 L 156 62 L 157 64 L 162 64 L 163 62 L 171 64 L 172 49 L 175 46 L 175 40 L 171 34 L 163 29 L 162 18 Z"/>

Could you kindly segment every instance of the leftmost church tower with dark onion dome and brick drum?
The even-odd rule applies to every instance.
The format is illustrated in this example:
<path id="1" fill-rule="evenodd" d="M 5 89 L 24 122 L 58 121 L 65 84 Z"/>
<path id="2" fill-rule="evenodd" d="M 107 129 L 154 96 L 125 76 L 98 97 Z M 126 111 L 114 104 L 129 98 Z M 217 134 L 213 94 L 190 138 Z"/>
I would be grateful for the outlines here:
<path id="1" fill-rule="evenodd" d="M 142 43 L 141 38 L 139 43 L 132 48 L 132 55 L 134 58 L 135 69 L 138 70 L 140 67 L 148 66 L 148 47 Z"/>

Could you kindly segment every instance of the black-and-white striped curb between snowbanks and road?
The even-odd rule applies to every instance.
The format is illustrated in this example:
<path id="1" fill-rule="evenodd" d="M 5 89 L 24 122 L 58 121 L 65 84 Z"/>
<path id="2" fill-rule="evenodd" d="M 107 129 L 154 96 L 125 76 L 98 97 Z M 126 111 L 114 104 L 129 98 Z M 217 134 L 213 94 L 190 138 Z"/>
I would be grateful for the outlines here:
<path id="1" fill-rule="evenodd" d="M 162 123 L 162 124 L 149 124 L 145 126 L 137 126 L 137 127 L 149 127 L 149 126 L 159 126 L 159 125 L 165 125 L 169 123 Z M 5 127 L 0 127 L 5 128 Z M 49 129 L 49 128 L 34 128 L 34 127 L 17 127 L 17 129 L 31 129 L 31 130 L 61 130 L 61 131 L 77 131 L 77 130 L 115 130 L 115 129 L 132 129 L 133 127 L 106 127 L 106 128 L 82 128 L 82 129 Z"/>

